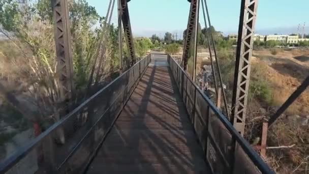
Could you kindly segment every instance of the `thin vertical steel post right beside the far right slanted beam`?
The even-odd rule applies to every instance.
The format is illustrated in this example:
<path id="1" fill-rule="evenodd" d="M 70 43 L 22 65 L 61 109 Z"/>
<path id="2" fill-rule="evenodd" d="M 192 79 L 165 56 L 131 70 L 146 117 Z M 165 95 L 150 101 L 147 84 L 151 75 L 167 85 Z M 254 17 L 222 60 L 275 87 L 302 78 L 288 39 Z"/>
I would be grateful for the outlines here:
<path id="1" fill-rule="evenodd" d="M 200 10 L 200 0 L 196 0 L 195 8 L 195 22 L 194 22 L 194 60 L 193 60 L 193 69 L 192 69 L 192 80 L 196 80 L 196 60 L 197 60 L 197 35 L 199 31 L 199 10 Z"/>

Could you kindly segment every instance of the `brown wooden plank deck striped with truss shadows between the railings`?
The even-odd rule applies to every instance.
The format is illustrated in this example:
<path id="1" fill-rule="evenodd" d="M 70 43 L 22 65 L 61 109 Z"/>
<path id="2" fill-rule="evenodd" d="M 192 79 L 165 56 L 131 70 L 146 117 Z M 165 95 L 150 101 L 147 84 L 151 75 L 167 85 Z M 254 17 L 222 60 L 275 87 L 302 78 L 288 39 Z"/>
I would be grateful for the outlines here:
<path id="1" fill-rule="evenodd" d="M 88 173 L 208 173 L 168 68 L 154 54 Z"/>

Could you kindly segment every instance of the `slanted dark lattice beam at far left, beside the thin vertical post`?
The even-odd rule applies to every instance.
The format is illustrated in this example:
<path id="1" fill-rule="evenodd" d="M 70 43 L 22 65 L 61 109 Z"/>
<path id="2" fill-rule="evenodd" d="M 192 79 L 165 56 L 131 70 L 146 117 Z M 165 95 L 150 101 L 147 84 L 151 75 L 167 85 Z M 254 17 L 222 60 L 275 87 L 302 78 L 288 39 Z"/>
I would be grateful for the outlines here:
<path id="1" fill-rule="evenodd" d="M 123 24 L 123 32 L 125 32 L 127 45 L 130 52 L 131 66 L 136 63 L 135 59 L 135 51 L 134 51 L 134 41 L 131 30 L 130 16 L 129 16 L 129 8 L 128 8 L 127 0 L 121 0 L 121 19 Z"/>

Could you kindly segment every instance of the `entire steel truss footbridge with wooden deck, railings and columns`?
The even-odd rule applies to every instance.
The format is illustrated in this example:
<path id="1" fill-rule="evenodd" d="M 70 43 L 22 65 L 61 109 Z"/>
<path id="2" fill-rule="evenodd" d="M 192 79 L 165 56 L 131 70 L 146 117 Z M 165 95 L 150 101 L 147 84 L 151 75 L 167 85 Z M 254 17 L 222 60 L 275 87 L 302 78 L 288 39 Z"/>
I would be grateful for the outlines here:
<path id="1" fill-rule="evenodd" d="M 120 76 L 12 154 L 0 164 L 0 173 L 274 173 L 242 137 L 258 0 L 241 1 L 231 113 L 227 109 L 221 111 L 195 82 L 200 8 L 206 27 L 206 19 L 211 26 L 205 0 L 189 1 L 181 64 L 160 52 L 136 60 L 130 0 L 117 1 L 119 39 L 123 26 L 131 67 L 122 72 L 120 55 Z M 74 95 L 69 12 L 67 1 L 51 2 L 61 97 L 69 101 Z M 110 1 L 109 11 L 114 3 L 115 0 Z M 211 38 L 209 52 L 217 59 L 212 35 L 207 35 Z M 194 67 L 189 74 L 191 48 Z M 214 64 L 212 61 L 213 71 Z M 220 88 L 220 68 L 219 79 L 217 84 L 214 78 L 215 93 L 218 95 L 221 89 L 226 104 Z M 279 117 L 307 83 L 296 90 L 268 124 Z M 66 133 L 65 143 L 58 143 L 56 135 L 61 131 Z"/>

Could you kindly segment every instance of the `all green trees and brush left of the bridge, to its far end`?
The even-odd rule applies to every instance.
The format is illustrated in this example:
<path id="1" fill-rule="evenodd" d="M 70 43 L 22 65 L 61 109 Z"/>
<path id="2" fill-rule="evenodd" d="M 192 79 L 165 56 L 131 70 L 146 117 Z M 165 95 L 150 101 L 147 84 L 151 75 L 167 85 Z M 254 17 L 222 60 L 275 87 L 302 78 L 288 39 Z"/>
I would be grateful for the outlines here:
<path id="1" fill-rule="evenodd" d="M 77 97 L 74 102 L 77 101 L 78 104 L 87 97 L 86 95 L 94 92 L 92 90 L 97 90 L 96 87 L 104 82 L 107 75 L 115 77 L 117 74 L 113 72 L 119 66 L 118 28 L 114 24 L 107 24 L 105 17 L 100 16 L 85 0 L 68 1 L 68 8 L 71 23 L 73 83 Z M 38 109 L 37 114 L 22 117 L 21 113 L 15 113 L 14 108 L 4 110 L 7 106 L 2 105 L 1 111 L 10 117 L 0 115 L 0 122 L 5 120 L 15 129 L 21 130 L 24 128 L 25 120 L 33 121 L 36 115 L 40 115 L 39 124 L 47 127 L 59 119 L 55 112 L 61 110 L 58 108 L 60 92 L 50 1 L 41 0 L 32 3 L 18 0 L 0 1 L 0 25 L 2 26 L 0 33 L 7 36 L 7 40 L 0 42 L 1 80 L 16 82 L 13 88 L 8 88 L 10 92 L 20 95 L 25 91 L 30 93 L 29 101 L 22 102 L 32 103 L 34 110 Z M 159 45 L 160 39 L 156 37 L 154 42 Z M 154 47 L 148 38 L 135 38 L 134 43 L 136 56 L 139 57 Z M 123 55 L 124 69 L 127 69 L 129 51 L 125 39 L 123 39 Z M 17 88 L 17 84 L 24 85 L 23 90 Z M 16 120 L 20 121 L 19 124 L 14 122 Z M 9 135 L 1 136 L 1 140 L 6 140 Z"/>

